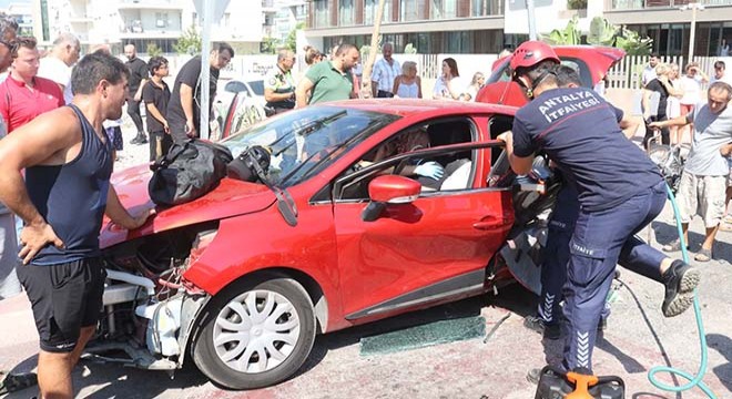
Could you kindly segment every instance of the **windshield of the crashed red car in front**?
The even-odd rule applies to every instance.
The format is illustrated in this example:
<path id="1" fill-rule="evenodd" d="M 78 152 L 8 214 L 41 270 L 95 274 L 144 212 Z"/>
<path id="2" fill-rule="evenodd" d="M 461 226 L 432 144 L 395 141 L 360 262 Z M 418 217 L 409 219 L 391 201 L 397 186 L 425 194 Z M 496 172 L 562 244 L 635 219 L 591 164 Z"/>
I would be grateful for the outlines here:
<path id="1" fill-rule="evenodd" d="M 260 145 L 271 153 L 266 177 L 288 187 L 317 174 L 334 160 L 399 116 L 338 106 L 308 106 L 253 125 L 221 143 L 236 157 Z"/>

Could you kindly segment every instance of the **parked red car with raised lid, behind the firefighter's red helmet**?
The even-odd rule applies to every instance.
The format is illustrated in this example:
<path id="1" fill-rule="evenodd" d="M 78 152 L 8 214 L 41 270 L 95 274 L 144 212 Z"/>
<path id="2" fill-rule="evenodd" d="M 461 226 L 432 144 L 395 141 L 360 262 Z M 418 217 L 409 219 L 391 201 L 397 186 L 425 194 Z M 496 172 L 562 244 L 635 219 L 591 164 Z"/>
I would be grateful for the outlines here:
<path id="1" fill-rule="evenodd" d="M 582 85 L 590 89 L 602 84 L 608 71 L 626 55 L 621 49 L 600 45 L 556 45 L 553 49 L 562 64 L 579 71 Z M 511 81 L 510 59 L 511 55 L 507 55 L 494 62 L 486 85 L 476 96 L 477 102 L 520 108 L 529 101 L 526 91 Z"/>

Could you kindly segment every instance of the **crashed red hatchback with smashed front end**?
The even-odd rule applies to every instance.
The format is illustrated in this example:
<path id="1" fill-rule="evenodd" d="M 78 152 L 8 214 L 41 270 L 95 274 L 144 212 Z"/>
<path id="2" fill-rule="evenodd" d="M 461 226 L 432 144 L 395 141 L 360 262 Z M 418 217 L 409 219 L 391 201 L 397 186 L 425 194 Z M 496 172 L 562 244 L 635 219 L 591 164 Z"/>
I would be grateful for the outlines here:
<path id="1" fill-rule="evenodd" d="M 271 154 L 255 182 L 226 177 L 140 229 L 102 228 L 110 284 L 89 350 L 124 350 L 115 361 L 148 369 L 190 357 L 215 382 L 251 389 L 293 376 L 316 334 L 495 290 L 514 280 L 509 267 L 531 286 L 539 268 L 519 233 L 550 196 L 517 186 L 494 140 L 514 112 L 353 100 L 228 137 L 234 156 Z M 133 212 L 150 206 L 150 176 L 113 177 Z"/>

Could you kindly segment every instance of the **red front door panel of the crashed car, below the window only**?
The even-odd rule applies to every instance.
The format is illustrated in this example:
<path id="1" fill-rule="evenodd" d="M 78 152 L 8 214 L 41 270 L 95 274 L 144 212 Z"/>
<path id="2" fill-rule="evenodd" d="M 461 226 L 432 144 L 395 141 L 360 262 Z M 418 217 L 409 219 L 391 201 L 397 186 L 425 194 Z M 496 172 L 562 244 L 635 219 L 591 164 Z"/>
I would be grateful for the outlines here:
<path id="1" fill-rule="evenodd" d="M 335 204 L 345 314 L 485 268 L 512 223 L 506 194 L 423 195 L 411 204 L 387 205 L 374 222 L 360 218 L 365 203 Z"/>

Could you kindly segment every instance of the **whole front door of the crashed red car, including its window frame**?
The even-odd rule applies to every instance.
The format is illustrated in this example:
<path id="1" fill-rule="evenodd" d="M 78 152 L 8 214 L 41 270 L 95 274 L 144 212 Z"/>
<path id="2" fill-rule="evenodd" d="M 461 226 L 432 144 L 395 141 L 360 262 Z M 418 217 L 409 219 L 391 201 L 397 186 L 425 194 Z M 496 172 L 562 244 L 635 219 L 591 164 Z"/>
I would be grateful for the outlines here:
<path id="1" fill-rule="evenodd" d="M 352 167 L 335 182 L 335 234 L 348 319 L 383 317 L 482 290 L 485 267 L 514 217 L 510 192 L 485 184 L 490 147 L 500 144 L 445 144 Z M 466 156 L 467 165 L 453 166 Z M 461 171 L 461 187 L 424 190 L 414 202 L 386 204 L 380 217 L 365 222 L 368 182 L 398 174 L 415 160 L 448 165 L 445 181 Z"/>

